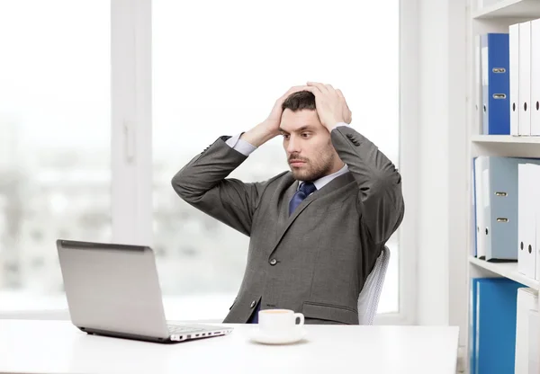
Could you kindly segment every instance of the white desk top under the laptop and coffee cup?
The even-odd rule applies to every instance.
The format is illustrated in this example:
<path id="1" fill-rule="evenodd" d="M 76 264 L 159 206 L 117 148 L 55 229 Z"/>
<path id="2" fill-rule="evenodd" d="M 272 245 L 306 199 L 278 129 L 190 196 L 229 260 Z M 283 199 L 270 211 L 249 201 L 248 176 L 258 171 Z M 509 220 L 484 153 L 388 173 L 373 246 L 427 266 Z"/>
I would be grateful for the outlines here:
<path id="1" fill-rule="evenodd" d="M 301 343 L 228 336 L 175 344 L 87 335 L 67 321 L 0 320 L 0 373 L 455 374 L 458 327 L 306 325 Z"/>

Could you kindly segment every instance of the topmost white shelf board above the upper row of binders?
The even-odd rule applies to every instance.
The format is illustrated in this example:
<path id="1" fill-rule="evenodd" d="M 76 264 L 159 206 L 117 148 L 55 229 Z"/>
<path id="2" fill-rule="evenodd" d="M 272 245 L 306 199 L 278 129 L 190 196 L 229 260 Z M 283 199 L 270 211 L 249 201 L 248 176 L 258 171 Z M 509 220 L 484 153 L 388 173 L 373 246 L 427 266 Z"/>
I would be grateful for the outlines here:
<path id="1" fill-rule="evenodd" d="M 538 0 L 500 0 L 496 4 L 485 6 L 473 13 L 473 19 L 490 18 L 527 18 L 540 17 Z"/>

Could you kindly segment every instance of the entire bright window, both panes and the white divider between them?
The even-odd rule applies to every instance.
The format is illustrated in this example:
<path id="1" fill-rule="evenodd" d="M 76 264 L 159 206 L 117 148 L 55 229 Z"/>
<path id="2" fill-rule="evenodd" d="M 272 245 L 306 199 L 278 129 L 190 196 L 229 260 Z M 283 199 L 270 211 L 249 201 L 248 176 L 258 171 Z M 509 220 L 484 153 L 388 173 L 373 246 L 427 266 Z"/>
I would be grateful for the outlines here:
<path id="1" fill-rule="evenodd" d="M 221 319 L 248 238 L 187 206 L 172 176 L 308 80 L 340 88 L 353 126 L 399 166 L 399 26 L 399 0 L 1 2 L 0 312 L 67 307 L 58 237 L 152 236 L 167 315 Z M 231 176 L 287 168 L 275 138 Z M 397 235 L 388 245 L 381 313 L 399 311 L 403 279 Z"/>

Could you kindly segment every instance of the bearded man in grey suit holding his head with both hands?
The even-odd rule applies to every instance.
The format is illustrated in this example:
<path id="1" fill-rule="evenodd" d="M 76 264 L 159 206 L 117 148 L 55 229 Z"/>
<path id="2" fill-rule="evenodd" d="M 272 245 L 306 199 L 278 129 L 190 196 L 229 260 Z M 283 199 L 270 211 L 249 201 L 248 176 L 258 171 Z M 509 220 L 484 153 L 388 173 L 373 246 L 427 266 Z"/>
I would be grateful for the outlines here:
<path id="1" fill-rule="evenodd" d="M 218 138 L 173 178 L 182 199 L 250 236 L 224 323 L 254 323 L 258 310 L 287 308 L 306 324 L 358 324 L 358 295 L 404 203 L 400 174 L 350 122 L 341 91 L 295 86 L 266 120 Z M 227 179 L 280 134 L 290 172 L 259 183 Z"/>

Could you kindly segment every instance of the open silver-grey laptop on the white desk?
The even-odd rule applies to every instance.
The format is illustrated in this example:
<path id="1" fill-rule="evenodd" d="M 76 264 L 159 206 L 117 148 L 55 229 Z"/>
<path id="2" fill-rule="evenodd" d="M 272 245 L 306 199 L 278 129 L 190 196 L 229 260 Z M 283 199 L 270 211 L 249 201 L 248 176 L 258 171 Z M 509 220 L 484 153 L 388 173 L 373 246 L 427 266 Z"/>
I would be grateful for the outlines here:
<path id="1" fill-rule="evenodd" d="M 57 248 L 71 322 L 87 334 L 176 343 L 233 330 L 167 324 L 154 251 L 148 246 L 58 239 Z"/>

